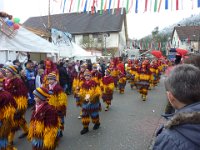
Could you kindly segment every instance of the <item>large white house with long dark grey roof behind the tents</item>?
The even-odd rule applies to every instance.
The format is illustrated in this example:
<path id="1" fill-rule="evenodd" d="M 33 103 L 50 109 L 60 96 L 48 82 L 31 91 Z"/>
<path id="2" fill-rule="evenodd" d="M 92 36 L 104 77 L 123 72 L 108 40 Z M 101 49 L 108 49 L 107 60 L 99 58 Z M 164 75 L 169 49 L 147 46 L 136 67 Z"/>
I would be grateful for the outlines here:
<path id="1" fill-rule="evenodd" d="M 50 28 L 68 32 L 72 41 L 98 55 L 120 56 L 128 39 L 125 13 L 55 14 L 29 18 L 23 26 L 46 39 L 50 36 Z"/>

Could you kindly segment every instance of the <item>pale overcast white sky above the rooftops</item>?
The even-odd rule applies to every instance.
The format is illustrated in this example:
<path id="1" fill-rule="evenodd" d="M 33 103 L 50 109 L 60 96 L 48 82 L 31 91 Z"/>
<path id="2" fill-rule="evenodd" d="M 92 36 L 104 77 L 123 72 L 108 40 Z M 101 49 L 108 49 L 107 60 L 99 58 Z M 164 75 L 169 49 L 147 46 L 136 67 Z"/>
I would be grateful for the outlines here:
<path id="1" fill-rule="evenodd" d="M 60 9 L 59 1 L 61 0 L 55 0 L 57 3 L 53 0 L 51 1 L 51 13 L 61 13 L 63 10 Z M 69 2 L 69 0 L 67 1 Z M 72 10 L 74 11 L 77 10 L 77 1 L 78 0 L 74 0 L 74 5 L 72 5 Z M 89 0 L 90 5 L 91 1 L 92 0 Z M 171 8 L 165 10 L 163 2 L 160 7 L 160 12 L 153 12 L 153 5 L 151 5 L 151 9 L 150 6 L 148 6 L 147 12 L 144 12 L 143 7 L 145 0 L 139 0 L 140 3 L 138 4 L 137 14 L 134 12 L 135 4 L 133 4 L 130 12 L 127 14 L 129 38 L 140 39 L 145 35 L 151 34 L 153 29 L 157 26 L 161 30 L 162 28 L 172 25 L 183 18 L 191 16 L 191 14 L 197 14 L 200 12 L 200 8 L 196 8 L 195 6 L 193 6 L 192 10 L 191 0 L 182 1 L 184 1 L 184 4 L 180 3 L 180 10 L 178 11 L 174 8 L 175 4 L 173 4 L 173 6 L 169 4 Z M 125 7 L 125 2 L 126 0 L 121 0 L 121 6 Z M 116 3 L 117 2 L 115 2 L 115 5 Z M 65 13 L 69 12 L 69 7 L 69 3 L 66 4 Z M 80 4 L 80 10 L 83 10 L 81 7 L 83 7 L 82 4 Z M 0 0 L 0 11 L 5 11 L 14 17 L 20 18 L 20 23 L 23 23 L 29 17 L 47 15 L 48 0 Z"/>

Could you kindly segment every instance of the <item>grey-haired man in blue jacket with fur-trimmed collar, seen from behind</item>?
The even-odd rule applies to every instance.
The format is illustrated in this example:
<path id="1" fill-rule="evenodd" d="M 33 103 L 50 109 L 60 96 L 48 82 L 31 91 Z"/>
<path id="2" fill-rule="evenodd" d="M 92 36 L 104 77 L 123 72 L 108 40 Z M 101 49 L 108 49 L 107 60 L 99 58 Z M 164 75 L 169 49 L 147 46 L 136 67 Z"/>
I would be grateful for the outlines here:
<path id="1" fill-rule="evenodd" d="M 182 64 L 165 80 L 167 98 L 175 113 L 157 131 L 153 150 L 200 149 L 200 70 Z"/>

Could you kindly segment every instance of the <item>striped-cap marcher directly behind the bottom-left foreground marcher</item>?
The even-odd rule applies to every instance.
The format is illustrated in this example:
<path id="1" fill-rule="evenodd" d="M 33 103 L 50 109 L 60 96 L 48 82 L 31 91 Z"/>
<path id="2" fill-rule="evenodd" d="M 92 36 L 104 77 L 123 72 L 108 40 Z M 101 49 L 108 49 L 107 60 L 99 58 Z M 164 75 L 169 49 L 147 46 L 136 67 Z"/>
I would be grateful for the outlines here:
<path id="1" fill-rule="evenodd" d="M 47 76 L 47 80 L 49 83 L 48 90 L 50 94 L 48 98 L 48 103 L 56 109 L 59 115 L 61 125 L 59 128 L 58 136 L 62 137 L 62 131 L 64 130 L 64 117 L 66 116 L 67 109 L 67 94 L 57 81 L 56 74 L 49 73 Z"/>

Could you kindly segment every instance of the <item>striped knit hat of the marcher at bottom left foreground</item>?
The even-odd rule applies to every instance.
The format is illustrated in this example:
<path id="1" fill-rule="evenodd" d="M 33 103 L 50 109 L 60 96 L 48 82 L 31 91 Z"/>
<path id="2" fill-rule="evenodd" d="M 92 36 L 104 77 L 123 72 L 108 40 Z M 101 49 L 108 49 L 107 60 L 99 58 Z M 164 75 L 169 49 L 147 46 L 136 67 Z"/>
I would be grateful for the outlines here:
<path id="1" fill-rule="evenodd" d="M 48 90 L 43 87 L 39 87 L 35 89 L 33 91 L 33 94 L 37 96 L 39 99 L 41 99 L 42 101 L 45 101 L 49 97 Z"/>

